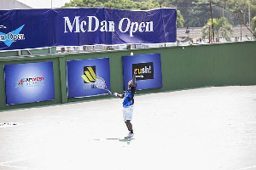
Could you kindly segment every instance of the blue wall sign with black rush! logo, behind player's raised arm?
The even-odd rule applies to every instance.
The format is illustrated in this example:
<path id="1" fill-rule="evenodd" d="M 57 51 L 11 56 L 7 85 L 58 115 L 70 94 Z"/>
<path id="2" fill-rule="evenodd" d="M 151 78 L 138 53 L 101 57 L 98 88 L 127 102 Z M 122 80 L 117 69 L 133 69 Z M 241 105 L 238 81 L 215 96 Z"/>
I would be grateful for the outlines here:
<path id="1" fill-rule="evenodd" d="M 162 87 L 162 71 L 160 54 L 142 54 L 123 56 L 124 90 L 137 69 L 137 90 Z"/>

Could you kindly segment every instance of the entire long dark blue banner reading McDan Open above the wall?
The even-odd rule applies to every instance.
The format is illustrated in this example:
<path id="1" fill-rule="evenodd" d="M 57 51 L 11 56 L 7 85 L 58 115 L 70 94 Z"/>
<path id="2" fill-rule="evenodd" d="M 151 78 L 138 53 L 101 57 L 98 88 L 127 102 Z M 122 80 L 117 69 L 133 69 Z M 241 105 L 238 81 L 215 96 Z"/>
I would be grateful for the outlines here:
<path id="1" fill-rule="evenodd" d="M 0 10 L 0 50 L 176 42 L 176 8 Z"/>

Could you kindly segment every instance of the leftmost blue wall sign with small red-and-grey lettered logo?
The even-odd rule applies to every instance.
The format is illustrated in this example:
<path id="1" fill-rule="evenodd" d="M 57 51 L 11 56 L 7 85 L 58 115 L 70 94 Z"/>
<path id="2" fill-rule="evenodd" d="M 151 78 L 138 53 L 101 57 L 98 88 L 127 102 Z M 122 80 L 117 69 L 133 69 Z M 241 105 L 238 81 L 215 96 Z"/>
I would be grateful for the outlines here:
<path id="1" fill-rule="evenodd" d="M 6 104 L 55 99 L 53 62 L 4 65 Z"/>

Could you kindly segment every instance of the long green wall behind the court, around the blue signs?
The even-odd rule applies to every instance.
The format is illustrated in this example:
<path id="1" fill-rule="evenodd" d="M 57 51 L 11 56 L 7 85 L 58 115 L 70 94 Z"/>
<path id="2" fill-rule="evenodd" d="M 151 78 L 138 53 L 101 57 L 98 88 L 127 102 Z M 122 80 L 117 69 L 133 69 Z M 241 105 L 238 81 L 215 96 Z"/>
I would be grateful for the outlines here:
<path id="1" fill-rule="evenodd" d="M 29 108 L 42 105 L 110 98 L 97 96 L 67 99 L 66 61 L 73 59 L 110 59 L 111 89 L 123 92 L 122 56 L 137 54 L 161 55 L 163 87 L 137 91 L 137 94 L 157 93 L 186 88 L 212 86 L 256 85 L 256 42 L 232 42 L 179 46 L 168 48 L 145 48 L 79 54 L 53 54 L 34 57 L 3 57 L 14 52 L 0 53 L 0 111 Z M 132 57 L 132 56 L 131 56 Z M 55 77 L 55 100 L 21 105 L 6 105 L 4 65 L 53 61 Z"/>

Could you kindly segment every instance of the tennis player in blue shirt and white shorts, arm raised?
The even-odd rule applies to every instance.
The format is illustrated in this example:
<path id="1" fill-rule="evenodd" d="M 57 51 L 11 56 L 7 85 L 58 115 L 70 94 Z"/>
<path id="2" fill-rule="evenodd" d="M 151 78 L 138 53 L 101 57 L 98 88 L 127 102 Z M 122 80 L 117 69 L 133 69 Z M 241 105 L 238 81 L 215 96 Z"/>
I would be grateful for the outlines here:
<path id="1" fill-rule="evenodd" d="M 133 71 L 132 80 L 128 82 L 128 89 L 125 91 L 125 94 L 117 94 L 113 93 L 113 95 L 119 97 L 120 99 L 124 99 L 123 101 L 123 118 L 128 128 L 128 135 L 125 139 L 131 139 L 134 135 L 132 128 L 132 114 L 133 114 L 133 104 L 134 104 L 134 94 L 136 92 L 136 72 L 137 69 Z"/>

